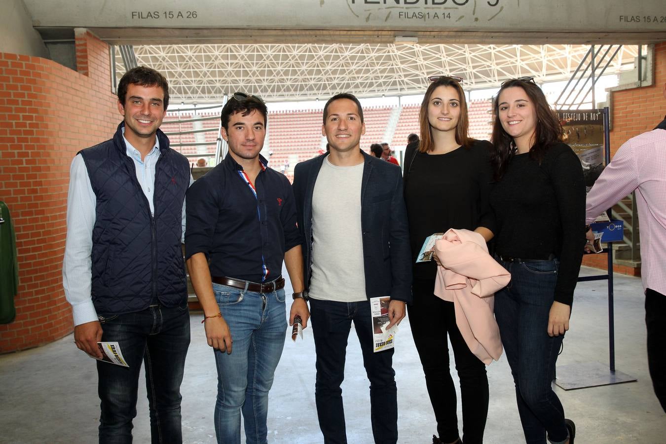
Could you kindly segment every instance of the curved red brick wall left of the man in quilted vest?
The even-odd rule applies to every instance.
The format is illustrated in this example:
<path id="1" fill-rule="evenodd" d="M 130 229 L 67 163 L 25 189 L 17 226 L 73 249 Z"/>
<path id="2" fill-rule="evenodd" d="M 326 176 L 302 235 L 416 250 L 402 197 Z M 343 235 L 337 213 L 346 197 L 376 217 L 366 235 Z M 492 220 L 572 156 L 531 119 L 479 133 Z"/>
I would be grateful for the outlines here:
<path id="1" fill-rule="evenodd" d="M 69 164 L 106 140 L 120 116 L 109 47 L 77 31 L 77 73 L 53 61 L 0 53 L 0 200 L 9 206 L 19 254 L 16 319 L 0 325 L 0 353 L 72 332 L 62 285 Z"/>

